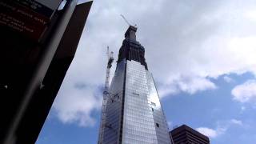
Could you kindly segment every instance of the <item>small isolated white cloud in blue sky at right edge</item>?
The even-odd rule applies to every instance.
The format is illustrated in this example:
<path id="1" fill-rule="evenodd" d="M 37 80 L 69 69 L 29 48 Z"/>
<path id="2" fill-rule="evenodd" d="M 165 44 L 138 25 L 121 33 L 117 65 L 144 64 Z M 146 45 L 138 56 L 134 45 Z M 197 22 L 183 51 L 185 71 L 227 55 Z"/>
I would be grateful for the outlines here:
<path id="1" fill-rule="evenodd" d="M 231 90 L 233 99 L 238 102 L 255 102 L 256 80 L 248 80 Z"/>

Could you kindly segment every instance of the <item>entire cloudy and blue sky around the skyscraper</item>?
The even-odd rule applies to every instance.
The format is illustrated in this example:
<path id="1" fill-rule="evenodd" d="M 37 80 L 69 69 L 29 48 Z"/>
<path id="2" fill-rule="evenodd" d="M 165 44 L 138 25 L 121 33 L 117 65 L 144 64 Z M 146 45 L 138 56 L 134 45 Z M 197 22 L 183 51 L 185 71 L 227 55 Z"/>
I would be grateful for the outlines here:
<path id="1" fill-rule="evenodd" d="M 106 46 L 117 59 L 128 28 L 120 14 L 138 26 L 170 130 L 256 142 L 256 0 L 95 0 L 37 144 L 97 142 Z"/>

